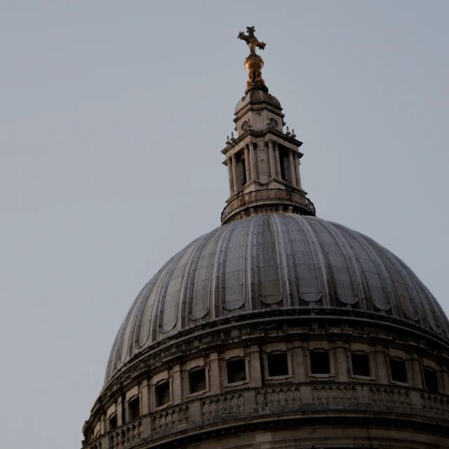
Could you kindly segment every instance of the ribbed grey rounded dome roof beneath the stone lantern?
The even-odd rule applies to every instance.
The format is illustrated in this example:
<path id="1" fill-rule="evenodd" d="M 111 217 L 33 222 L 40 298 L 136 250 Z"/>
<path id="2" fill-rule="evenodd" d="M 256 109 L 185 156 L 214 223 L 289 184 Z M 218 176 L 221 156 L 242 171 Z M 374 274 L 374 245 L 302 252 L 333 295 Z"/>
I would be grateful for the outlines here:
<path id="1" fill-rule="evenodd" d="M 434 296 L 372 239 L 317 217 L 260 215 L 214 229 L 163 265 L 123 321 L 105 381 L 172 335 L 267 309 L 357 311 L 440 341 L 449 335 Z"/>

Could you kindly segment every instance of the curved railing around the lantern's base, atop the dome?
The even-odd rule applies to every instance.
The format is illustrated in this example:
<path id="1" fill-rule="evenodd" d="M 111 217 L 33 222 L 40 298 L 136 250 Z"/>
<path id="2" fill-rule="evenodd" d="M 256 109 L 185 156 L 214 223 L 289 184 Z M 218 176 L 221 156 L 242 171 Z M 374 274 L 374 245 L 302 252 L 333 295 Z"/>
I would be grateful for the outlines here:
<path id="1" fill-rule="evenodd" d="M 292 190 L 285 189 L 260 189 L 254 190 L 253 192 L 248 192 L 246 194 L 241 194 L 233 199 L 222 211 L 222 221 L 225 220 L 228 215 L 234 210 L 246 206 L 250 203 L 256 201 L 288 201 L 290 203 L 297 203 L 303 208 L 309 210 L 313 215 L 315 215 L 315 206 L 306 196 L 293 192 Z"/>

